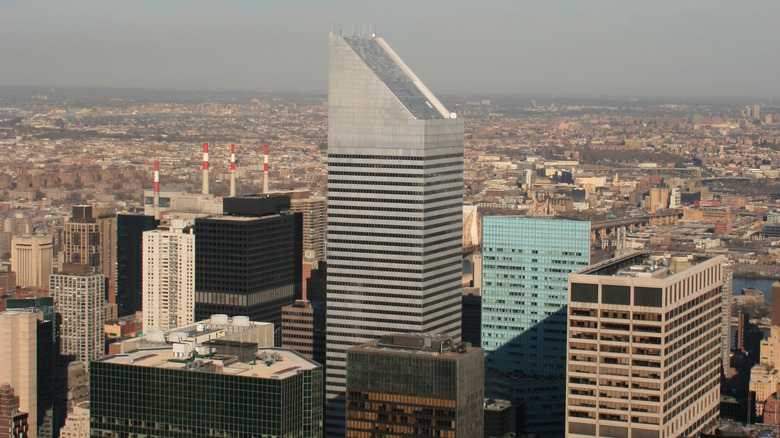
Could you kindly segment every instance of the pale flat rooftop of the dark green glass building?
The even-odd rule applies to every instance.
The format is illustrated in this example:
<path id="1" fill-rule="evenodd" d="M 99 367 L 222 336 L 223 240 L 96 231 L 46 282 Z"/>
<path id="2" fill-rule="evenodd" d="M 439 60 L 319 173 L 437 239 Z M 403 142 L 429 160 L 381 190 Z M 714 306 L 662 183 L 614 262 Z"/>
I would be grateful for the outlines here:
<path id="1" fill-rule="evenodd" d="M 285 379 L 294 376 L 298 371 L 320 367 L 316 362 L 295 351 L 280 348 L 261 348 L 257 350 L 255 357 L 257 360 L 248 363 L 235 361 L 235 356 L 222 355 L 196 357 L 182 361 L 174 358 L 172 347 L 167 347 L 117 354 L 98 359 L 97 362 L 167 370 L 210 372 L 258 379 Z"/>

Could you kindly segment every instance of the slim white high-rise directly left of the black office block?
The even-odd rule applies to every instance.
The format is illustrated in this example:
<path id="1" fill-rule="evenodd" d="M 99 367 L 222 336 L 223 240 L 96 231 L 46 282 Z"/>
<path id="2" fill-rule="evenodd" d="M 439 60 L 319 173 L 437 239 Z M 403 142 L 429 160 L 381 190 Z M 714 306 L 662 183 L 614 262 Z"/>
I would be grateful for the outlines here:
<path id="1" fill-rule="evenodd" d="M 143 233 L 143 331 L 195 321 L 195 234 L 183 221 Z"/>

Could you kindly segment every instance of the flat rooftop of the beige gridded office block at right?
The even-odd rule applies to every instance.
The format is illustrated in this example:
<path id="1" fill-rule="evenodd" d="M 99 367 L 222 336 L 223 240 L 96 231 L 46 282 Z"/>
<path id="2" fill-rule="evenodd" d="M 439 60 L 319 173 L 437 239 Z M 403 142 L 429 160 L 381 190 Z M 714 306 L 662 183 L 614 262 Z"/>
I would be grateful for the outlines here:
<path id="1" fill-rule="evenodd" d="M 715 257 L 718 255 L 635 252 L 589 266 L 576 274 L 663 279 L 684 272 Z"/>

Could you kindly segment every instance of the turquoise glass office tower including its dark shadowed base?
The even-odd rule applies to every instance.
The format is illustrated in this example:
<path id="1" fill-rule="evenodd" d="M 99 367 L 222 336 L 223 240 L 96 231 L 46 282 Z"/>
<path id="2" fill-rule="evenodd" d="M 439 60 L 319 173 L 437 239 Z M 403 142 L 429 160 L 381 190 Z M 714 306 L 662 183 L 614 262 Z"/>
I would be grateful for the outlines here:
<path id="1" fill-rule="evenodd" d="M 482 219 L 488 397 L 525 406 L 525 432 L 562 436 L 568 274 L 590 264 L 590 222 Z"/>

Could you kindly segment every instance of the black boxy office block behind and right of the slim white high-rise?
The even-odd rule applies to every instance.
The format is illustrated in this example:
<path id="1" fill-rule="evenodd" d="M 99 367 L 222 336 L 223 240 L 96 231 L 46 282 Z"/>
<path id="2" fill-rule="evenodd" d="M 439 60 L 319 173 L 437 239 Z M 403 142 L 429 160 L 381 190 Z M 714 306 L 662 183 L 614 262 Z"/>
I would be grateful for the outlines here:
<path id="1" fill-rule="evenodd" d="M 284 195 L 223 202 L 222 216 L 195 220 L 195 319 L 246 315 L 278 327 L 301 296 L 302 216 Z"/>

